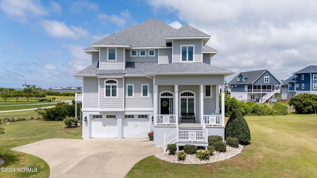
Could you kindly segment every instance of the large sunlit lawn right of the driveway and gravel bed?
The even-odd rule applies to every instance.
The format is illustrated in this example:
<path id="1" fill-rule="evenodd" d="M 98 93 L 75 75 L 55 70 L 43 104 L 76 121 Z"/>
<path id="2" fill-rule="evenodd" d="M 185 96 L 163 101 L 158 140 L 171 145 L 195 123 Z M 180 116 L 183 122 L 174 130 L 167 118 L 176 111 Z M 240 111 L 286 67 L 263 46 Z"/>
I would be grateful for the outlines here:
<path id="1" fill-rule="evenodd" d="M 177 165 L 149 156 L 127 178 L 314 178 L 317 115 L 246 116 L 251 144 L 234 158 L 205 165 Z"/>

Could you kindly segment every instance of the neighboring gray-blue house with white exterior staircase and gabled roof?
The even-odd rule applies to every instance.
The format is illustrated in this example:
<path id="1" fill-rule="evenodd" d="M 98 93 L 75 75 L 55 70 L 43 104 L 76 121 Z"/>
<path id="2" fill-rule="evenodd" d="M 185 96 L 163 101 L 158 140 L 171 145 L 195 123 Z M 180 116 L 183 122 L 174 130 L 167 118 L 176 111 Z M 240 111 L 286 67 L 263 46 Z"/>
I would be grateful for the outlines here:
<path id="1" fill-rule="evenodd" d="M 230 95 L 240 101 L 265 102 L 280 93 L 281 83 L 267 69 L 240 72 L 228 85 Z M 275 100 L 273 100 L 275 101 Z"/>

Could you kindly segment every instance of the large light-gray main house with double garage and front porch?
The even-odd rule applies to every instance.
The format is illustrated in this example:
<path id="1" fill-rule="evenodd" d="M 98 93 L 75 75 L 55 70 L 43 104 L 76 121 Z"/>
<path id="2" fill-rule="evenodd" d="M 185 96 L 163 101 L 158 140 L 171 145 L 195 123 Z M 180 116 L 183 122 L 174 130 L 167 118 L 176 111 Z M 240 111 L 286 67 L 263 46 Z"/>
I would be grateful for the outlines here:
<path id="1" fill-rule="evenodd" d="M 219 86 L 233 72 L 211 65 L 217 51 L 209 39 L 189 25 L 174 29 L 149 19 L 84 49 L 92 65 L 74 75 L 83 81 L 76 98 L 86 118 L 83 138 L 145 138 L 154 131 L 156 145 L 206 145 L 208 135 L 224 136 Z"/>

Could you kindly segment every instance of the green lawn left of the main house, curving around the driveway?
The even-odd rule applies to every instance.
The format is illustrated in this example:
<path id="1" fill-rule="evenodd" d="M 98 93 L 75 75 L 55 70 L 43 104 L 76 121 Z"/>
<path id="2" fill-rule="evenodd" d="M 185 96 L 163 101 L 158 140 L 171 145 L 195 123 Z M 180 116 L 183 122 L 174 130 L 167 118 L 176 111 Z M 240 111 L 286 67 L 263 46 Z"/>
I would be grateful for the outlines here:
<path id="1" fill-rule="evenodd" d="M 81 138 L 81 127 L 66 129 L 62 128 L 63 126 L 62 121 L 20 121 L 11 122 L 10 125 L 2 124 L 6 134 L 0 134 L 0 157 L 5 162 L 0 168 L 37 168 L 37 172 L 0 172 L 0 178 L 48 178 L 50 168 L 44 160 L 11 149 L 49 138 Z"/>

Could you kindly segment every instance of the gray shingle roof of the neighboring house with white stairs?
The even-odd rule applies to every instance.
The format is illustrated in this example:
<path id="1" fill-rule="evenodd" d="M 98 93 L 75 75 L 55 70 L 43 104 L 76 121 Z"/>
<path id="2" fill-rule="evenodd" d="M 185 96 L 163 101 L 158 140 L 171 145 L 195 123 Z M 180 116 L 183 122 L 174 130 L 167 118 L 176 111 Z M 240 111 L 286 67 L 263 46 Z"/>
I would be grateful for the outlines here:
<path id="1" fill-rule="evenodd" d="M 236 75 L 229 83 L 228 85 L 235 85 L 235 84 L 253 84 L 257 79 L 259 79 L 260 76 L 266 72 L 267 69 L 264 70 L 258 70 L 258 71 L 250 71 L 250 72 L 240 72 L 238 75 Z M 239 75 L 242 75 L 245 78 L 245 81 L 238 82 L 237 77 Z"/>

